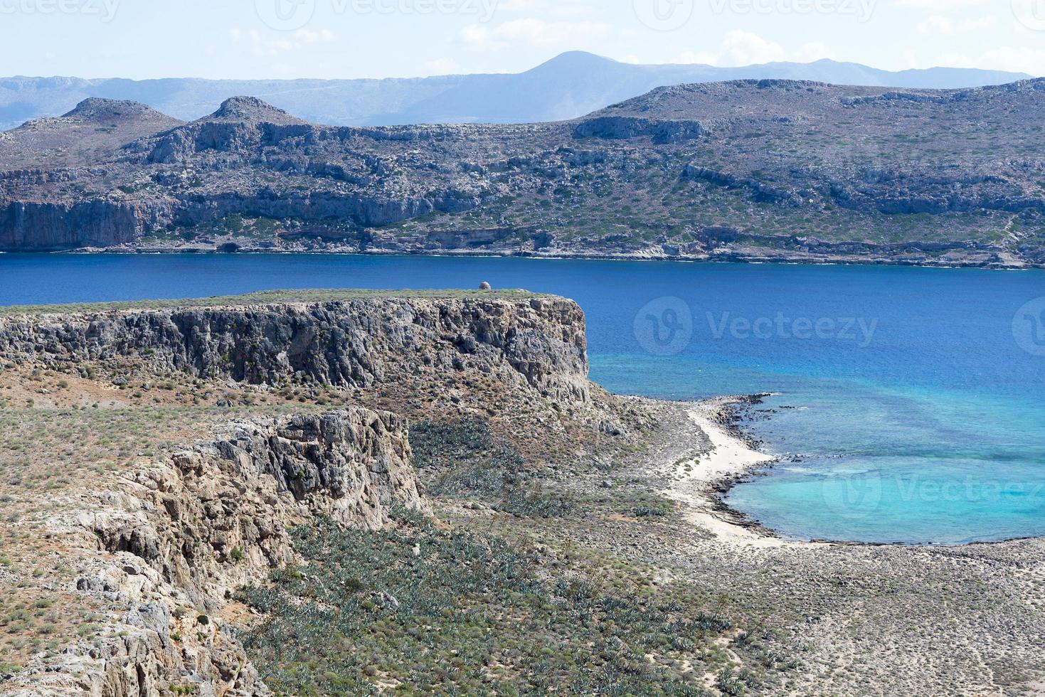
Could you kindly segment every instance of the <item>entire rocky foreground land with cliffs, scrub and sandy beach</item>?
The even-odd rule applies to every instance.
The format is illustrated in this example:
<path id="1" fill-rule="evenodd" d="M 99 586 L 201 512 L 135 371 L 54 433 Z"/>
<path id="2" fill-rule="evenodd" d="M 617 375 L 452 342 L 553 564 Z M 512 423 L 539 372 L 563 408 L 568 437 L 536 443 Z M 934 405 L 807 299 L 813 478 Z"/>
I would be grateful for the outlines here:
<path id="1" fill-rule="evenodd" d="M 676 494 L 736 415 L 606 394 L 583 323 L 524 292 L 4 308 L 0 694 L 1040 693 L 1040 541 L 710 517 Z"/>

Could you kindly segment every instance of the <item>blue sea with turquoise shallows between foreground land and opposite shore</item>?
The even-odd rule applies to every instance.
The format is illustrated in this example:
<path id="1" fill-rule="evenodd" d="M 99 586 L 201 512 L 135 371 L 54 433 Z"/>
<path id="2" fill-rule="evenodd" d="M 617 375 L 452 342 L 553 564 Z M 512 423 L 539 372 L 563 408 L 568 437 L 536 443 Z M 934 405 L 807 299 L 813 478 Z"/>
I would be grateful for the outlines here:
<path id="1" fill-rule="evenodd" d="M 729 495 L 794 538 L 1045 536 L 1045 273 L 285 255 L 0 255 L 0 304 L 265 288 L 525 287 L 587 313 L 593 378 L 771 392 L 785 463 Z"/>

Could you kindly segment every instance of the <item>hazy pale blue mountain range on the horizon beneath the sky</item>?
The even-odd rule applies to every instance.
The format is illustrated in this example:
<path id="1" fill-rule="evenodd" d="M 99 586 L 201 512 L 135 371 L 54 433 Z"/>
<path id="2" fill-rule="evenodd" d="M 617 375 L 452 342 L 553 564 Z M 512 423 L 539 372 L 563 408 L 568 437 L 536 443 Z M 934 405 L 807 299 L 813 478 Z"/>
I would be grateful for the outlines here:
<path id="1" fill-rule="evenodd" d="M 959 89 L 1000 85 L 1022 73 L 963 68 L 889 72 L 856 63 L 769 63 L 742 68 L 631 65 L 572 51 L 518 74 L 389 79 L 131 80 L 0 78 L 0 130 L 65 114 L 88 97 L 140 101 L 182 120 L 213 112 L 230 94 L 259 97 L 301 118 L 332 125 L 527 123 L 577 118 L 650 90 L 742 78 L 834 85 Z"/>

